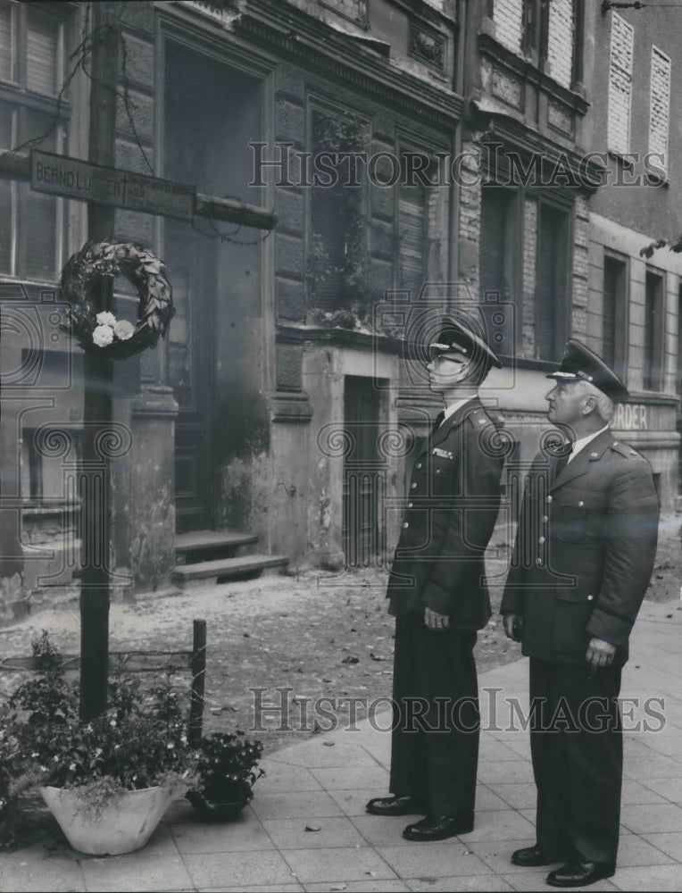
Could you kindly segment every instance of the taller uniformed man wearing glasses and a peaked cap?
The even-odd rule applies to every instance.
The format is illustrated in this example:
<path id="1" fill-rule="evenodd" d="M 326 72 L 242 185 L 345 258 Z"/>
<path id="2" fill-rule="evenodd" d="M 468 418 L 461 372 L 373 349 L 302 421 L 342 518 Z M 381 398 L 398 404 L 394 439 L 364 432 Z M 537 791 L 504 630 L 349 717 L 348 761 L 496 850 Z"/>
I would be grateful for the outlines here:
<path id="1" fill-rule="evenodd" d="M 429 346 L 429 387 L 443 396 L 412 469 L 407 510 L 388 582 L 395 615 L 391 797 L 375 815 L 421 814 L 410 840 L 473 828 L 478 684 L 473 647 L 490 617 L 483 555 L 500 504 L 503 450 L 478 399 L 491 365 L 482 338 L 445 317 Z"/>

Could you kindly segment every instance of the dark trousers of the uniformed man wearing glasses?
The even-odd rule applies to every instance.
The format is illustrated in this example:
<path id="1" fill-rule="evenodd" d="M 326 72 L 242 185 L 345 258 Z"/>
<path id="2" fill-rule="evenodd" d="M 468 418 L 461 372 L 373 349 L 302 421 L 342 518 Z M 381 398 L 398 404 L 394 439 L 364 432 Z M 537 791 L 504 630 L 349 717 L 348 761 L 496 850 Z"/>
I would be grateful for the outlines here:
<path id="1" fill-rule="evenodd" d="M 395 622 L 389 790 L 425 801 L 432 816 L 473 821 L 478 767 L 476 632 Z"/>

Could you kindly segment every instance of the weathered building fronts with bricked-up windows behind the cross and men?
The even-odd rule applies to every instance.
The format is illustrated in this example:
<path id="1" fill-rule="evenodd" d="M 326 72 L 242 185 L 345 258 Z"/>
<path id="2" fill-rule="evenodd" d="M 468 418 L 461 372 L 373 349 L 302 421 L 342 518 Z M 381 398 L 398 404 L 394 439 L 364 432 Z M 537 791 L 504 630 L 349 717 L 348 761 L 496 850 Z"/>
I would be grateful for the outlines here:
<path id="1" fill-rule="evenodd" d="M 176 315 L 154 350 L 115 363 L 115 596 L 175 585 L 178 537 L 205 531 L 252 535 L 293 566 L 384 563 L 437 405 L 417 345 L 453 306 L 503 357 L 483 396 L 516 444 L 512 483 L 575 336 L 626 378 L 616 428 L 674 508 L 682 270 L 639 252 L 679 222 L 678 26 L 607 5 L 112 4 L 116 166 L 277 216 L 270 231 L 116 210 L 112 236 L 167 264 Z M 0 149 L 87 159 L 73 53 L 91 16 L 0 2 Z M 664 158 L 633 163 L 647 185 L 621 186 L 628 153 L 645 152 Z M 3 621 L 76 591 L 83 361 L 58 282 L 87 238 L 84 203 L 8 165 Z M 122 280 L 116 302 L 135 319 Z"/>

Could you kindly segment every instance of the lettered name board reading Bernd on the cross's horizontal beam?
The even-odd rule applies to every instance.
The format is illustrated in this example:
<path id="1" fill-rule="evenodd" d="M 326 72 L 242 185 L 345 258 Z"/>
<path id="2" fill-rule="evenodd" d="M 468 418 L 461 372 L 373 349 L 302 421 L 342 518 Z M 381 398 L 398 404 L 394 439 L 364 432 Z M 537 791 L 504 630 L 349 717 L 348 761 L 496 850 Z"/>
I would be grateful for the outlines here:
<path id="1" fill-rule="evenodd" d="M 191 220 L 194 213 L 193 186 L 37 149 L 31 151 L 30 162 L 30 187 L 38 192 L 182 220 Z"/>

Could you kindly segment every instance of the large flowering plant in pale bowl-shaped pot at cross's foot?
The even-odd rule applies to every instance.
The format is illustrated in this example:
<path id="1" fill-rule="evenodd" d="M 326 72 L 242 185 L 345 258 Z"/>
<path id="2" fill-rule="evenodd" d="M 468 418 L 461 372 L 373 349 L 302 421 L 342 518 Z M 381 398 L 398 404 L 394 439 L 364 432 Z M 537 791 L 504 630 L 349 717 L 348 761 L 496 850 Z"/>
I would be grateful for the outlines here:
<path id="1" fill-rule="evenodd" d="M 44 633 L 45 670 L 23 682 L 0 717 L 0 814 L 38 789 L 71 846 L 113 855 L 146 845 L 170 800 L 194 783 L 179 693 L 170 683 L 109 685 L 108 709 L 79 719 L 79 688 Z"/>

